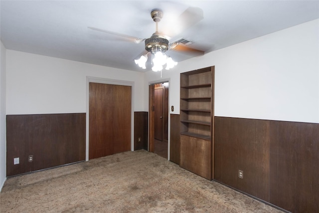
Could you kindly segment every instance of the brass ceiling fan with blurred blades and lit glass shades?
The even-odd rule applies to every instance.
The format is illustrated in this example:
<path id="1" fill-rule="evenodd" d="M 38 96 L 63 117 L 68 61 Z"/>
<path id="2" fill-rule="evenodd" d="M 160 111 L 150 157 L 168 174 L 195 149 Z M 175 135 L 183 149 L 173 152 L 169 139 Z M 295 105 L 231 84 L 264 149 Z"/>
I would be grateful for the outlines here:
<path id="1" fill-rule="evenodd" d="M 198 12 L 199 11 L 199 12 Z M 153 71 L 161 71 L 163 69 L 163 66 L 165 66 L 165 69 L 170 69 L 174 67 L 177 62 L 174 62 L 171 57 L 166 56 L 165 52 L 167 50 L 173 50 L 173 51 L 180 51 L 182 53 L 191 55 L 191 56 L 198 56 L 203 55 L 204 52 L 198 49 L 193 49 L 188 46 L 186 46 L 184 41 L 185 40 L 177 40 L 174 42 L 169 42 L 166 35 L 159 32 L 158 23 L 163 17 L 163 11 L 159 8 L 152 9 L 151 11 L 151 17 L 156 22 L 156 31 L 153 33 L 153 35 L 149 38 L 138 38 L 130 35 L 125 35 L 117 32 L 112 32 L 104 29 L 99 29 L 96 27 L 88 27 L 93 30 L 113 34 L 116 36 L 120 36 L 130 42 L 134 43 L 141 43 L 145 41 L 145 51 L 140 57 L 140 59 L 135 60 L 135 63 L 138 64 L 143 69 L 146 69 L 146 62 L 148 60 L 148 55 L 151 54 L 152 56 L 152 70 Z M 183 29 L 195 24 L 199 20 L 203 18 L 202 16 L 202 10 L 200 8 L 195 7 L 188 7 L 180 16 L 179 19 L 181 20 L 181 23 L 184 25 L 181 27 Z"/>

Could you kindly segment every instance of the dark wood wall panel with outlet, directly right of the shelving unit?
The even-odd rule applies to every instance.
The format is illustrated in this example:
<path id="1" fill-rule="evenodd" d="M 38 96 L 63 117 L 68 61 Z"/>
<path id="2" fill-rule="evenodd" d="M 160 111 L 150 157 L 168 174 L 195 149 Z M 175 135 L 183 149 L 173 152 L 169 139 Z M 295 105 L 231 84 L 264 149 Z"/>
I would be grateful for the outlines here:
<path id="1" fill-rule="evenodd" d="M 214 178 L 241 191 L 256 191 L 255 121 L 215 117 Z M 238 170 L 244 178 L 238 177 Z"/>

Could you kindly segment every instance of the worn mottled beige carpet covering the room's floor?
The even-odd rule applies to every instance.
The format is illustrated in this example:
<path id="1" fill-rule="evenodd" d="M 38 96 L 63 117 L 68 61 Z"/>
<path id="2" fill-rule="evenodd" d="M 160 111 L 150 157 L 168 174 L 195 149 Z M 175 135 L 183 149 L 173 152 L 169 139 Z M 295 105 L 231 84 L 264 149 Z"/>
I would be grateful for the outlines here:
<path id="1" fill-rule="evenodd" d="M 145 150 L 9 178 L 1 213 L 281 211 Z"/>

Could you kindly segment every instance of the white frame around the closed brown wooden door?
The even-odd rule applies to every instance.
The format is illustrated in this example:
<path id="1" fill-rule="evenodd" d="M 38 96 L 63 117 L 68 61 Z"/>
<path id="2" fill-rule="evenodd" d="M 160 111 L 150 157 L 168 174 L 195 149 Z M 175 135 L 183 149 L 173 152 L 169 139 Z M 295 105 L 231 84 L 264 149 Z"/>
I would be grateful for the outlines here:
<path id="1" fill-rule="evenodd" d="M 123 81 L 116 79 L 108 78 L 99 78 L 93 76 L 86 76 L 86 138 L 85 138 L 85 161 L 89 160 L 89 99 L 90 99 L 90 86 L 89 83 L 102 83 L 102 84 L 113 84 L 113 85 L 122 85 L 122 86 L 131 86 L 132 95 L 131 95 L 131 151 L 134 151 L 134 81 Z"/>

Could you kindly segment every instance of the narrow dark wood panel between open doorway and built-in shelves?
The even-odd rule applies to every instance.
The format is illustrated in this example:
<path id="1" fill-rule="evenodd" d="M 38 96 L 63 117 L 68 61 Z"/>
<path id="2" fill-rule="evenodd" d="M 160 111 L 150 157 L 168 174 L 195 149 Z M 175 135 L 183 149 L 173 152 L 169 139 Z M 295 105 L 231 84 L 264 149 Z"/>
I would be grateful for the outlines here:
<path id="1" fill-rule="evenodd" d="M 170 114 L 170 148 L 169 160 L 179 165 L 180 140 L 179 140 L 179 115 Z"/>

